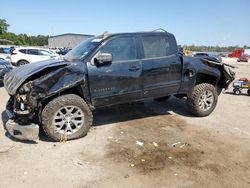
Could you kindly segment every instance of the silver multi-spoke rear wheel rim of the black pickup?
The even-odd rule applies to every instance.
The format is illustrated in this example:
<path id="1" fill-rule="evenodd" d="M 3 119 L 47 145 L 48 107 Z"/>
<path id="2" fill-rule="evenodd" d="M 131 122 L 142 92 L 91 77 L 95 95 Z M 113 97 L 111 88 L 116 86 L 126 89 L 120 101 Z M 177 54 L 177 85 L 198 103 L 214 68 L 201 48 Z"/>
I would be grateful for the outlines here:
<path id="1" fill-rule="evenodd" d="M 211 91 L 204 91 L 199 98 L 199 107 L 202 111 L 209 110 L 214 103 L 214 95 Z"/>

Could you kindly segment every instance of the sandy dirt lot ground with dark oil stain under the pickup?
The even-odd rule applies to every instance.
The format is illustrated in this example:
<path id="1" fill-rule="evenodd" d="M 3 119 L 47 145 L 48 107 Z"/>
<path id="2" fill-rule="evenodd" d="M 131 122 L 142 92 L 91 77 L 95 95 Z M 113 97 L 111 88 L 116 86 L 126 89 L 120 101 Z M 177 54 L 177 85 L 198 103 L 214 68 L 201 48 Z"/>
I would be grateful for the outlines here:
<path id="1" fill-rule="evenodd" d="M 250 78 L 238 63 L 237 78 Z M 250 97 L 221 94 L 193 117 L 184 100 L 101 109 L 82 139 L 19 142 L 6 133 L 0 89 L 0 187 L 250 187 Z"/>

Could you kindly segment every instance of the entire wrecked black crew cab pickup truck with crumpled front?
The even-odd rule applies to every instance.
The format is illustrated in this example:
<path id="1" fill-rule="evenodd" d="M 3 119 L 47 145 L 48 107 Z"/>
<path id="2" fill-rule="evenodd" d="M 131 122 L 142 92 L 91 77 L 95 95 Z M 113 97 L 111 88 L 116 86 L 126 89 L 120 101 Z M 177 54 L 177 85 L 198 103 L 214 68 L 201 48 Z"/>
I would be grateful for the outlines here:
<path id="1" fill-rule="evenodd" d="M 90 38 L 64 60 L 24 65 L 5 76 L 8 132 L 55 141 L 87 134 L 96 108 L 170 95 L 187 97 L 190 111 L 207 116 L 234 79 L 209 58 L 184 57 L 168 32 L 120 33 Z"/>

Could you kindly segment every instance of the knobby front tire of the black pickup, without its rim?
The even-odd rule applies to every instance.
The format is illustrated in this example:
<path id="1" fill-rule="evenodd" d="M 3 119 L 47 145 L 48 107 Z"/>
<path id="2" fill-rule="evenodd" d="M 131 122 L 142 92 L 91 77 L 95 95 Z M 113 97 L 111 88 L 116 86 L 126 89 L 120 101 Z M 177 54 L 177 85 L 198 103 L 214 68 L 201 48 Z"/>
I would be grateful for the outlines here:
<path id="1" fill-rule="evenodd" d="M 65 135 L 56 130 L 53 126 L 53 118 L 56 112 L 67 105 L 79 107 L 84 113 L 84 125 L 75 133 Z M 42 110 L 42 127 L 45 134 L 54 141 L 65 141 L 81 138 L 87 135 L 93 123 L 93 115 L 87 103 L 79 96 L 67 94 L 50 101 Z"/>

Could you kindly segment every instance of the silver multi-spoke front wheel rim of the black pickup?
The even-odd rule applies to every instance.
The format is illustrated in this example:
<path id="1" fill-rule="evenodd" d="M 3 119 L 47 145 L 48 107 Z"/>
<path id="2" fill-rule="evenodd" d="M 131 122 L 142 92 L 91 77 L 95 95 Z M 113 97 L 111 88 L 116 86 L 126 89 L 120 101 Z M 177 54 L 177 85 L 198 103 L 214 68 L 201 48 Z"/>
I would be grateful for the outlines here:
<path id="1" fill-rule="evenodd" d="M 64 106 L 54 115 L 53 126 L 61 134 L 74 134 L 84 125 L 84 112 L 77 106 Z"/>

